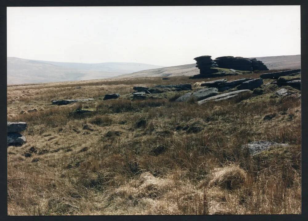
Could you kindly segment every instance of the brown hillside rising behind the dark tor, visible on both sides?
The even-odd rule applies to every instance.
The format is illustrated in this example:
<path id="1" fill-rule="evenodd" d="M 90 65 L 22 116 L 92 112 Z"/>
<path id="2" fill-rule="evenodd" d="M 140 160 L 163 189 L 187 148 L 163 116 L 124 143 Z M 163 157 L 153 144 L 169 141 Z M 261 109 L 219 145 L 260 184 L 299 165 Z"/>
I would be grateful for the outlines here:
<path id="1" fill-rule="evenodd" d="M 257 57 L 270 70 L 274 69 L 297 69 L 301 68 L 301 55 L 283 55 L 271 57 Z M 123 74 L 114 78 L 138 78 L 138 77 L 172 77 L 172 76 L 192 76 L 199 74 L 196 63 L 142 70 L 132 74 Z"/>

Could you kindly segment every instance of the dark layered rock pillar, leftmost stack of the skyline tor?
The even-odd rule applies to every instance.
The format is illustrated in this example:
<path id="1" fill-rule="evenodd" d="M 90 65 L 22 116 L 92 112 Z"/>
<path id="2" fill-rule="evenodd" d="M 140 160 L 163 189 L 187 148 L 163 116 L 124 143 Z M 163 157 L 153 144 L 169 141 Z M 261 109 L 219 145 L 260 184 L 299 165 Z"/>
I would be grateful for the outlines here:
<path id="1" fill-rule="evenodd" d="M 204 55 L 204 56 L 200 56 L 197 58 L 194 58 L 194 60 L 196 60 L 197 65 L 196 67 L 200 70 L 200 75 L 207 77 L 213 73 L 217 73 L 218 70 L 214 69 L 212 67 L 218 67 L 218 65 L 216 64 L 216 62 L 214 62 L 211 58 L 212 56 L 209 55 Z M 197 75 L 195 75 L 197 76 Z M 201 77 L 200 76 L 200 77 Z"/>

